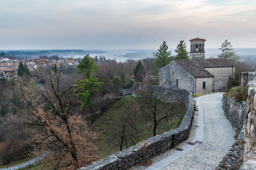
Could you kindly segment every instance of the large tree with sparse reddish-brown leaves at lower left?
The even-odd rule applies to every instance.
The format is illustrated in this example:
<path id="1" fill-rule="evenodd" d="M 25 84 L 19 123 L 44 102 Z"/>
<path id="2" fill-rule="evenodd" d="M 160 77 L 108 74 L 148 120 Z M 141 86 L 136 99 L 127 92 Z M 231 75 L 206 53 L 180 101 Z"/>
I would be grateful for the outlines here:
<path id="1" fill-rule="evenodd" d="M 61 66 L 48 67 L 44 85 L 37 80 L 20 80 L 20 94 L 26 104 L 25 123 L 34 146 L 33 155 L 47 152 L 42 160 L 50 169 L 77 169 L 95 160 L 95 134 L 81 115 L 72 113 L 75 100 L 72 85 L 61 76 Z"/>

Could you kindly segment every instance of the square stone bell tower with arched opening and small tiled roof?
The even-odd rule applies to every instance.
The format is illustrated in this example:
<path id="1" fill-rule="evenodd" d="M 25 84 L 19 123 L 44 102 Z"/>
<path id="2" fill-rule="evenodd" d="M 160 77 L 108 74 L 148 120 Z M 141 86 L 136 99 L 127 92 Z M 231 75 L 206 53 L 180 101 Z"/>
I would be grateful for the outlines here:
<path id="1" fill-rule="evenodd" d="M 205 39 L 190 39 L 189 59 L 205 59 L 204 41 Z"/>

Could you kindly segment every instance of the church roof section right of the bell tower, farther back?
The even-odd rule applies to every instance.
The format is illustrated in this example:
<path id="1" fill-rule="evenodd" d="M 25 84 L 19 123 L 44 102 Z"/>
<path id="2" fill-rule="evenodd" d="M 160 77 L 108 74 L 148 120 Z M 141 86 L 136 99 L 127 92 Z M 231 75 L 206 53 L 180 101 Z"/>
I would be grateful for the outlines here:
<path id="1" fill-rule="evenodd" d="M 204 59 L 204 60 L 197 60 L 198 64 L 202 67 L 234 67 L 232 62 L 225 60 L 225 59 Z"/>

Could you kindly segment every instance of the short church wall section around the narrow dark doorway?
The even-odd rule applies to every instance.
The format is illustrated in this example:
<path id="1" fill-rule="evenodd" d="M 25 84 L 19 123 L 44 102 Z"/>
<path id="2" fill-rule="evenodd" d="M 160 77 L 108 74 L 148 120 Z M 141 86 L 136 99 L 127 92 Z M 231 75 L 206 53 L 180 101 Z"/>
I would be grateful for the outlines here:
<path id="1" fill-rule="evenodd" d="M 212 77 L 207 78 L 196 78 L 196 92 L 195 93 L 204 93 L 212 92 Z M 203 89 L 203 82 L 205 82 L 205 89 Z"/>

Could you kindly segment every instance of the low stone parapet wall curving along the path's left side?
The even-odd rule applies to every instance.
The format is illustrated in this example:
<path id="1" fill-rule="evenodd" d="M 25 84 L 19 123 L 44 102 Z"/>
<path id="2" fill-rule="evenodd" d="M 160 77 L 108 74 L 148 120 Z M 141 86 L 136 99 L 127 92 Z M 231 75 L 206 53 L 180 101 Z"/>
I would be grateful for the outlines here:
<path id="1" fill-rule="evenodd" d="M 187 103 L 188 110 L 179 128 L 148 138 L 135 146 L 131 146 L 121 152 L 100 159 L 88 166 L 81 167 L 81 169 L 128 169 L 136 164 L 142 164 L 146 160 L 185 141 L 189 137 L 193 122 L 195 103 L 191 94 L 184 97 L 184 102 Z"/>

